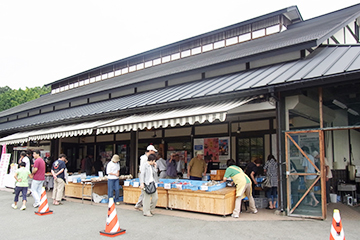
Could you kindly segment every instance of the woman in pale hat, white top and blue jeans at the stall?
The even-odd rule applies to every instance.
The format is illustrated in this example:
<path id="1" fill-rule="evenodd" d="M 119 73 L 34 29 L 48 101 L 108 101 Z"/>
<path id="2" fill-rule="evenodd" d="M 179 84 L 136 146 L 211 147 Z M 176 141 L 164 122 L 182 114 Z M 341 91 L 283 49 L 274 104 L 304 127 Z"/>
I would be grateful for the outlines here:
<path id="1" fill-rule="evenodd" d="M 114 198 L 114 190 L 115 190 L 115 198 L 114 202 L 117 205 L 120 204 L 120 185 L 119 185 L 119 174 L 120 174 L 120 157 L 117 154 L 111 158 L 111 161 L 106 166 L 106 173 L 108 174 L 108 196 L 109 198 Z"/>

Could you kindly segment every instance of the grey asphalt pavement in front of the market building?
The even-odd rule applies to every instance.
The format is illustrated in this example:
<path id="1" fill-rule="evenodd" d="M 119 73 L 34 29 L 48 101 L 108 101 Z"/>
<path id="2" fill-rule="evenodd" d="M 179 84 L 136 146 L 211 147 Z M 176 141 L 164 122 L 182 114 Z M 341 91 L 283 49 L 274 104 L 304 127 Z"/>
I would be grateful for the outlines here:
<path id="1" fill-rule="evenodd" d="M 0 190 L 0 238 L 108 239 L 99 233 L 105 230 L 107 204 L 68 199 L 54 206 L 49 196 L 53 214 L 38 216 L 32 197 L 26 210 L 14 210 L 12 191 Z M 324 221 L 279 216 L 265 209 L 258 214 L 242 213 L 238 219 L 162 208 L 157 208 L 153 217 L 144 217 L 133 205 L 121 204 L 116 206 L 116 213 L 126 233 L 114 239 L 329 239 L 333 208 L 340 209 L 346 239 L 359 239 L 360 213 L 341 203 L 330 205 Z"/>

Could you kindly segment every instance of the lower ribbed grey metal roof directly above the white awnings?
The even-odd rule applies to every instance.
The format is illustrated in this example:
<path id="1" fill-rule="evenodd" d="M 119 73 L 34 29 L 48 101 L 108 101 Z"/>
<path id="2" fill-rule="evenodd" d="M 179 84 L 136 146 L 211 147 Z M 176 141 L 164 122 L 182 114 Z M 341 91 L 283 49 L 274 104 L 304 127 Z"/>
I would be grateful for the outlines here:
<path id="1" fill-rule="evenodd" d="M 174 104 L 194 104 L 199 101 L 218 101 L 233 98 L 235 95 L 250 96 L 251 90 L 263 90 L 268 87 L 282 87 L 290 84 L 302 84 L 342 74 L 360 73 L 360 46 L 328 46 L 318 48 L 312 55 L 294 62 L 252 69 L 236 74 L 215 77 L 133 94 L 117 99 L 87 104 L 74 108 L 39 114 L 0 124 L 0 132 L 14 131 L 20 128 L 60 124 L 64 121 L 98 119 L 124 114 L 149 111 L 149 109 L 169 108 Z M 324 80 L 325 79 L 325 80 Z M 172 105 L 173 104 L 173 105 Z"/>

